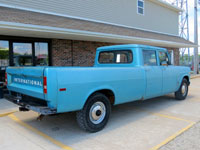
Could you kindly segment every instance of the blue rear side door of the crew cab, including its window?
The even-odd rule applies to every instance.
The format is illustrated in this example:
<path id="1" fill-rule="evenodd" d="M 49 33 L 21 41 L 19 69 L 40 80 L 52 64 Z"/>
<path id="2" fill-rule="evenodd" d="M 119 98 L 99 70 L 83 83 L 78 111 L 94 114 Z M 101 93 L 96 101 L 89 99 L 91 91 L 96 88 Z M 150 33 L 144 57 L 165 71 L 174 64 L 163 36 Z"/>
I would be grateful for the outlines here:
<path id="1" fill-rule="evenodd" d="M 159 96 L 162 93 L 162 69 L 158 66 L 156 51 L 143 50 L 143 60 L 147 80 L 145 98 Z"/>

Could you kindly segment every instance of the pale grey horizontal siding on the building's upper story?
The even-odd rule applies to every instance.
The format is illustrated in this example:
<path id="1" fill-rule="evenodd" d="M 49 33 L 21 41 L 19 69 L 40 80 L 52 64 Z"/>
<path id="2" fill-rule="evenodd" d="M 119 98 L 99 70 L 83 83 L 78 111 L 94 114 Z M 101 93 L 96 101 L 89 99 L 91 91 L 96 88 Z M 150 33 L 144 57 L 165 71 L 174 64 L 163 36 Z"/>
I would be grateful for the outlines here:
<path id="1" fill-rule="evenodd" d="M 23 7 L 178 35 L 178 12 L 145 0 L 145 15 L 137 0 L 0 0 Z"/>

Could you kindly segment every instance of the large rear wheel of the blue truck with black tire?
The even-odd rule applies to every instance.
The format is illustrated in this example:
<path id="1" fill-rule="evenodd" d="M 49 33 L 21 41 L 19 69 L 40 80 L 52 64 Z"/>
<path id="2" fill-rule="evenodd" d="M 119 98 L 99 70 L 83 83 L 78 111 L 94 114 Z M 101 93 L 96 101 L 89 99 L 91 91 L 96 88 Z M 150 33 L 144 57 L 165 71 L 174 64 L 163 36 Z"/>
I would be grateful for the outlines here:
<path id="1" fill-rule="evenodd" d="M 102 130 L 111 113 L 109 99 L 101 93 L 89 97 L 84 108 L 77 112 L 76 119 L 80 128 L 94 133 Z"/>

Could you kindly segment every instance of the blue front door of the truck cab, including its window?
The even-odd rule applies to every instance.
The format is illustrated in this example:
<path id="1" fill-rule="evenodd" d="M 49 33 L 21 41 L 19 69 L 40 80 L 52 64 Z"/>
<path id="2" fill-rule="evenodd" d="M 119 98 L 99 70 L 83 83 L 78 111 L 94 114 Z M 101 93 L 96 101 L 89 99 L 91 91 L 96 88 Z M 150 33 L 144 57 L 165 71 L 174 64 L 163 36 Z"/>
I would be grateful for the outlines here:
<path id="1" fill-rule="evenodd" d="M 158 53 L 163 76 L 162 93 L 168 94 L 174 92 L 177 88 L 177 70 L 175 66 L 171 65 L 167 52 L 158 51 Z"/>

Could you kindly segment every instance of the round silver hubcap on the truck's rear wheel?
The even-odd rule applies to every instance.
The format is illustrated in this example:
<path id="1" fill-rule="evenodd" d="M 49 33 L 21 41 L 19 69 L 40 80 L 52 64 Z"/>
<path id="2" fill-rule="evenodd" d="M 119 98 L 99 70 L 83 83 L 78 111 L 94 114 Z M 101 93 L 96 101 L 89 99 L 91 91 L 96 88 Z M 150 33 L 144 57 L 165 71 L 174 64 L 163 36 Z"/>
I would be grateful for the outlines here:
<path id="1" fill-rule="evenodd" d="M 96 102 L 92 105 L 89 112 L 90 121 L 99 124 L 106 116 L 106 107 L 102 102 Z"/>

